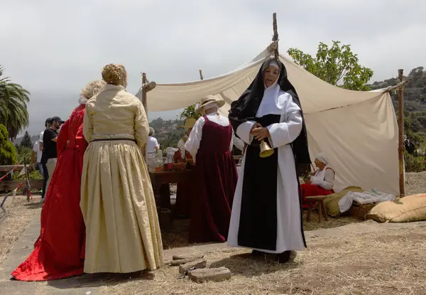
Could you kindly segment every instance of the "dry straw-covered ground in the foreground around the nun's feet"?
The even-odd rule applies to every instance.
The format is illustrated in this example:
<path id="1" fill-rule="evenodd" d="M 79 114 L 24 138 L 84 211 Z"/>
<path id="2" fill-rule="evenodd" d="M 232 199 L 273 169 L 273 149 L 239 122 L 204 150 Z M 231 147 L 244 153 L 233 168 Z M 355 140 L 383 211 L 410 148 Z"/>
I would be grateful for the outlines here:
<path id="1" fill-rule="evenodd" d="M 425 240 L 424 227 L 316 237 L 283 265 L 226 248 L 206 258 L 210 267 L 228 267 L 229 281 L 197 284 L 177 267 L 163 267 L 137 279 L 105 277 L 97 284 L 103 294 L 426 294 Z M 67 284 L 84 282 L 72 280 Z"/>

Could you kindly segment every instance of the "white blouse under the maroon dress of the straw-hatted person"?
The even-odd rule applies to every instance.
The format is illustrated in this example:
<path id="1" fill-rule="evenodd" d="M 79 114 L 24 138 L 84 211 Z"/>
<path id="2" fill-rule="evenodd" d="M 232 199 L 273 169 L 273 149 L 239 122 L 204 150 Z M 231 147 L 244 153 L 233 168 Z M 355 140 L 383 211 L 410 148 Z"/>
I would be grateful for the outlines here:
<path id="1" fill-rule="evenodd" d="M 222 114 L 219 114 L 219 118 L 215 113 L 207 114 L 206 116 L 210 122 L 213 122 L 215 124 L 219 124 L 224 127 L 229 126 L 230 124 L 229 119 L 227 117 L 222 116 Z M 199 119 L 197 119 L 197 122 L 195 122 L 195 125 L 190 133 L 190 137 L 185 143 L 185 149 L 191 154 L 193 159 L 196 159 L 197 151 L 198 149 L 200 149 L 200 142 L 202 139 L 202 127 L 204 127 L 205 123 L 206 120 L 204 119 L 204 117 L 200 117 Z M 232 151 L 232 146 L 234 146 L 233 138 L 234 132 L 232 132 L 231 143 L 229 144 L 229 151 Z"/>

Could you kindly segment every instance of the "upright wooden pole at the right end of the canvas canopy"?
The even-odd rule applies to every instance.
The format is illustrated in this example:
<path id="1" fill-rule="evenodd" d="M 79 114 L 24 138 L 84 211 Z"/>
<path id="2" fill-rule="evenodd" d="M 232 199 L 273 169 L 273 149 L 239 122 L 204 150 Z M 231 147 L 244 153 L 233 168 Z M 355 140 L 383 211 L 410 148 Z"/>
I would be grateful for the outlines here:
<path id="1" fill-rule="evenodd" d="M 403 82 L 404 70 L 398 70 L 398 80 Z M 399 161 L 399 184 L 400 196 L 405 196 L 405 179 L 404 179 L 404 100 L 403 100 L 403 87 L 398 90 L 398 161 Z"/>

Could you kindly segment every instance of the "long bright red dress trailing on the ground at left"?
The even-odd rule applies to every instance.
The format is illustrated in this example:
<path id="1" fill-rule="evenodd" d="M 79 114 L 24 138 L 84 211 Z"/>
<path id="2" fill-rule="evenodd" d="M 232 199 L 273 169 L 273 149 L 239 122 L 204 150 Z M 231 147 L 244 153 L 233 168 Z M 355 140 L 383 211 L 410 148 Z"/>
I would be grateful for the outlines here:
<path id="1" fill-rule="evenodd" d="M 59 133 L 58 163 L 41 210 L 40 236 L 30 256 L 12 272 L 20 281 L 50 281 L 83 273 L 80 181 L 87 147 L 82 134 L 84 110 L 85 105 L 80 104 Z"/>

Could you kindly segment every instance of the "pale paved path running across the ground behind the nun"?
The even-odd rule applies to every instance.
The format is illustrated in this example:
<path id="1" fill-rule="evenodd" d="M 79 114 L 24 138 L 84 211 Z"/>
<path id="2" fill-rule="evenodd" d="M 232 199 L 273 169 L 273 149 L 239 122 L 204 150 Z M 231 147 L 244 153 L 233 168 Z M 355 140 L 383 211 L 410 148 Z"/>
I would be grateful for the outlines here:
<path id="1" fill-rule="evenodd" d="M 0 264 L 0 294 L 99 294 L 97 291 L 99 286 L 108 284 L 119 284 L 117 281 L 101 281 L 94 279 L 90 275 L 82 277 L 62 279 L 58 281 L 43 282 L 24 282 L 11 280 L 11 272 L 18 264 L 21 264 L 28 254 L 33 250 L 33 243 L 40 233 L 40 218 L 34 220 L 25 230 L 18 242 L 13 245 L 11 252 L 4 262 Z M 343 227 L 329 228 L 324 230 L 312 230 L 306 232 L 307 242 L 316 237 L 335 237 L 344 235 L 356 235 L 367 232 L 380 232 L 383 230 L 392 230 L 399 228 L 426 227 L 426 221 L 410 222 L 410 223 L 382 223 L 373 222 L 372 220 L 354 223 Z M 224 250 L 226 244 L 209 244 L 197 245 L 193 247 L 182 247 L 165 250 L 165 262 L 169 261 L 173 254 L 191 254 L 194 252 L 213 252 Z M 76 286 L 75 281 L 78 280 L 77 287 L 69 288 L 70 280 L 73 281 L 72 286 Z"/>

